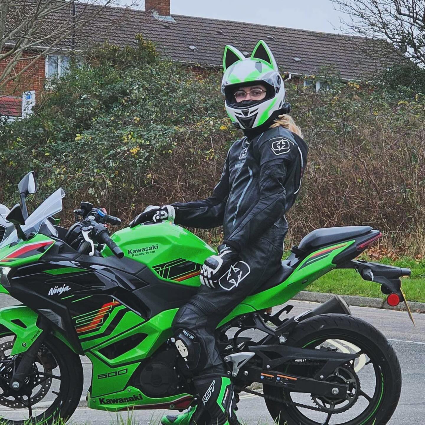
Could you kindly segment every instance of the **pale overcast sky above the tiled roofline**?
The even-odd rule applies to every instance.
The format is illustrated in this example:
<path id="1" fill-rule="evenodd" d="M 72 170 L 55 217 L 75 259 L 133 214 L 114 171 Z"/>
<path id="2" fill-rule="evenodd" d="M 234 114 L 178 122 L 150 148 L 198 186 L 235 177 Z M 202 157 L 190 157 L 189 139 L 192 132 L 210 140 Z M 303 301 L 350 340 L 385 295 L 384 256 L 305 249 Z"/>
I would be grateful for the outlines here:
<path id="1" fill-rule="evenodd" d="M 334 26 L 340 26 L 331 0 L 171 0 L 171 13 L 323 32 L 339 32 Z"/>

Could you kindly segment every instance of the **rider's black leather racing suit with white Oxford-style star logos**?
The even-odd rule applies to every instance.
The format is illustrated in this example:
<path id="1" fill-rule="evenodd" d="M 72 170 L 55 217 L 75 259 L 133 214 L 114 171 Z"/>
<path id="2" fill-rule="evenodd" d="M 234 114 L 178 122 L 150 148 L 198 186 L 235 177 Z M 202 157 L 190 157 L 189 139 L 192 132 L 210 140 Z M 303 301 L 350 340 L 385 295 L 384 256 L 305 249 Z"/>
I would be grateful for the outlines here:
<path id="1" fill-rule="evenodd" d="M 224 243 L 240 252 L 241 261 L 219 287 L 201 286 L 174 319 L 173 331 L 189 331 L 199 344 L 195 375 L 225 373 L 215 345 L 216 326 L 278 271 L 288 231 L 285 212 L 300 190 L 307 151 L 303 139 L 283 127 L 244 137 L 230 147 L 210 198 L 173 204 L 176 224 L 200 228 L 223 224 Z"/>

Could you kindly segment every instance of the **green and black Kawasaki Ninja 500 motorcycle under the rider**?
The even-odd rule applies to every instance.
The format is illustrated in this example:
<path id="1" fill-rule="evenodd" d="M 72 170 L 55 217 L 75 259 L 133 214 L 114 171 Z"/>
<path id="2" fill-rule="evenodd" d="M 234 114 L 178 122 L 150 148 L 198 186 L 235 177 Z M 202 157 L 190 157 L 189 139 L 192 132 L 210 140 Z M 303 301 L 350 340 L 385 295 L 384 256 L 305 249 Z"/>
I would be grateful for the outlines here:
<path id="1" fill-rule="evenodd" d="M 34 173 L 19 189 L 22 206 L 0 210 L 0 292 L 23 303 L 0 310 L 3 423 L 68 419 L 82 395 L 79 355 L 93 364 L 90 408 L 195 405 L 171 323 L 195 294 L 213 249 L 169 221 L 110 237 L 107 224 L 120 220 L 87 202 L 65 229 L 52 217 L 62 210 L 62 189 L 29 216 Z M 281 424 L 378 425 L 391 418 L 401 374 L 380 331 L 352 317 L 339 297 L 296 317 L 288 315 L 292 306 L 266 312 L 335 268 L 380 283 L 392 305 L 404 300 L 399 278 L 410 270 L 354 260 L 380 236 L 366 226 L 315 230 L 219 324 L 216 337 L 238 393 L 263 397 Z M 253 382 L 263 391 L 249 390 Z"/>

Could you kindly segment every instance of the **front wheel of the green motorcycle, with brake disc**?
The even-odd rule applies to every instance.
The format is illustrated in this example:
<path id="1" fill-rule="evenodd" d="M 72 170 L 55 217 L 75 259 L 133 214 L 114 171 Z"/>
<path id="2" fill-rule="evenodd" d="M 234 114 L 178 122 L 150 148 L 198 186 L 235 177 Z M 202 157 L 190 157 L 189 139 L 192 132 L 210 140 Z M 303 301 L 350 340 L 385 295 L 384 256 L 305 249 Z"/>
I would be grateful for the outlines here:
<path id="1" fill-rule="evenodd" d="M 78 406 L 83 383 L 79 356 L 57 338 L 48 336 L 19 391 L 10 388 L 22 354 L 11 356 L 14 334 L 0 333 L 0 424 L 50 425 L 68 419 Z"/>

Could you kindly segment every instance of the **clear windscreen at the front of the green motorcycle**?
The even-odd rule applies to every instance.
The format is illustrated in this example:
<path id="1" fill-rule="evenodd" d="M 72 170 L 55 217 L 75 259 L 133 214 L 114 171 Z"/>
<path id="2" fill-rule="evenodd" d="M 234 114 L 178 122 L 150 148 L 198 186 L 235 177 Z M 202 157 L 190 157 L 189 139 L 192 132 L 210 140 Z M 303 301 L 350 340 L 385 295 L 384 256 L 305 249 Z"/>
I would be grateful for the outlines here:
<path id="1" fill-rule="evenodd" d="M 57 214 L 62 211 L 62 198 L 65 192 L 62 188 L 52 193 L 41 205 L 37 208 L 26 220 L 25 225 L 22 226 L 24 232 L 38 233 L 41 225 L 51 215 Z M 18 240 L 17 232 L 14 230 L 1 244 L 5 246 Z"/>

